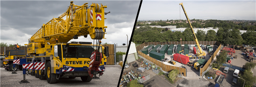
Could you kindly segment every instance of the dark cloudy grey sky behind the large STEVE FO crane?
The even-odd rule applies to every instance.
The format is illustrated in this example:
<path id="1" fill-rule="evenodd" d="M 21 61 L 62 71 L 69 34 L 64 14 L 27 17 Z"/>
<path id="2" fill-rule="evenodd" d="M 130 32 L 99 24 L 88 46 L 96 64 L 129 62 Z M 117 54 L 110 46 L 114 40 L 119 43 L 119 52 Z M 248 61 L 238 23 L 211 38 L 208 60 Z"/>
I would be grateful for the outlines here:
<path id="1" fill-rule="evenodd" d="M 0 42 L 13 44 L 19 43 L 24 45 L 28 43 L 28 39 L 34 35 L 43 24 L 49 22 L 53 17 L 57 18 L 65 11 L 67 6 L 70 5 L 71 0 L 55 0 L 55 1 L 0 1 Z M 76 1 L 73 0 L 76 5 L 91 5 L 92 3 L 106 4 L 108 8 L 105 8 L 105 12 L 111 11 L 106 15 L 105 26 L 106 29 L 105 38 L 102 42 L 107 43 L 127 43 L 131 38 L 131 32 L 134 26 L 134 21 L 137 15 L 137 11 L 140 5 L 140 1 L 119 1 L 119 0 L 91 0 L 91 1 Z M 83 36 L 77 40 L 71 41 L 90 41 L 90 35 L 87 38 Z"/>

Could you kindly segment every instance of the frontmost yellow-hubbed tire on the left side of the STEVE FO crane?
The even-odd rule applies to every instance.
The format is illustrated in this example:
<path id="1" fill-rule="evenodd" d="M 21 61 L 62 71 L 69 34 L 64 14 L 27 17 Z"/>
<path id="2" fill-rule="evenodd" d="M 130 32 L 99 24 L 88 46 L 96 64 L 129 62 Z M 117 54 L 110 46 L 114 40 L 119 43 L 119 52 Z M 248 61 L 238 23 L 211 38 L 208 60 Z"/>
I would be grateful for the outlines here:
<path id="1" fill-rule="evenodd" d="M 52 67 L 51 67 L 51 63 L 50 62 L 47 63 L 45 71 L 46 71 L 47 82 L 49 84 L 56 83 L 56 81 L 57 81 L 57 74 L 56 73 L 51 73 Z"/>

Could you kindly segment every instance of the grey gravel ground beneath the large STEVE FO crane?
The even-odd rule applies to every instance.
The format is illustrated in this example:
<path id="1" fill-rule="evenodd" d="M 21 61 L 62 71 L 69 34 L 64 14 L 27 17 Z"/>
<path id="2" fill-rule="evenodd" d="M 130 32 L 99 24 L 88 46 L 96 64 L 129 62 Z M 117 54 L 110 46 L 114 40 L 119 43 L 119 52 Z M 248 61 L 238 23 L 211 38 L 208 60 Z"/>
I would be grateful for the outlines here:
<path id="1" fill-rule="evenodd" d="M 105 65 L 106 71 L 100 79 L 93 79 L 90 82 L 82 82 L 80 77 L 69 79 L 61 77 L 55 84 L 48 84 L 47 80 L 40 80 L 35 76 L 26 75 L 30 83 L 20 84 L 23 80 L 22 71 L 12 74 L 10 71 L 0 68 L 0 87 L 116 87 L 122 70 L 120 65 Z"/>

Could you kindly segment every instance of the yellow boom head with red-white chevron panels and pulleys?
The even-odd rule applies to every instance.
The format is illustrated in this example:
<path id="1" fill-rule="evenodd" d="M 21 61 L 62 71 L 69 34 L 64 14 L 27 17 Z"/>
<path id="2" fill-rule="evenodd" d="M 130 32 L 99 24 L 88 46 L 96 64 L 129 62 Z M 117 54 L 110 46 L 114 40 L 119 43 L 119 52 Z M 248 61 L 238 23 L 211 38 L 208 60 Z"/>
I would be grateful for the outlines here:
<path id="1" fill-rule="evenodd" d="M 93 3 L 90 7 L 87 11 L 87 18 L 90 21 L 88 22 L 90 26 L 88 31 L 92 39 L 101 40 L 105 38 L 105 28 L 107 28 L 104 25 L 104 8 L 107 8 L 107 6 Z"/>

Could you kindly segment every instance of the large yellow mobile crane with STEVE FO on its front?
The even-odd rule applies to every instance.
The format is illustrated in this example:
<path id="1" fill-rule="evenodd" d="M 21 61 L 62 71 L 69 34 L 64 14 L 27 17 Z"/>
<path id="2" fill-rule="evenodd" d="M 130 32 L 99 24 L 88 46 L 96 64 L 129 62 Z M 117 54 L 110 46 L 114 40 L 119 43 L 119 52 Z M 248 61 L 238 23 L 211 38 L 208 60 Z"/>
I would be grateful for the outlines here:
<path id="1" fill-rule="evenodd" d="M 107 5 L 84 3 L 79 6 L 70 2 L 70 6 L 58 18 L 53 18 L 29 38 L 26 60 L 34 63 L 34 69 L 29 69 L 31 75 L 39 79 L 47 79 L 48 83 L 55 83 L 61 76 L 69 78 L 81 77 L 83 82 L 99 79 L 105 71 L 104 62 L 108 57 L 108 46 L 100 45 L 105 37 L 105 13 Z M 66 18 L 65 20 L 63 18 Z M 92 42 L 71 42 L 79 36 Z M 37 63 L 44 63 L 44 69 L 35 69 Z M 41 68 L 41 66 L 40 66 Z"/>

